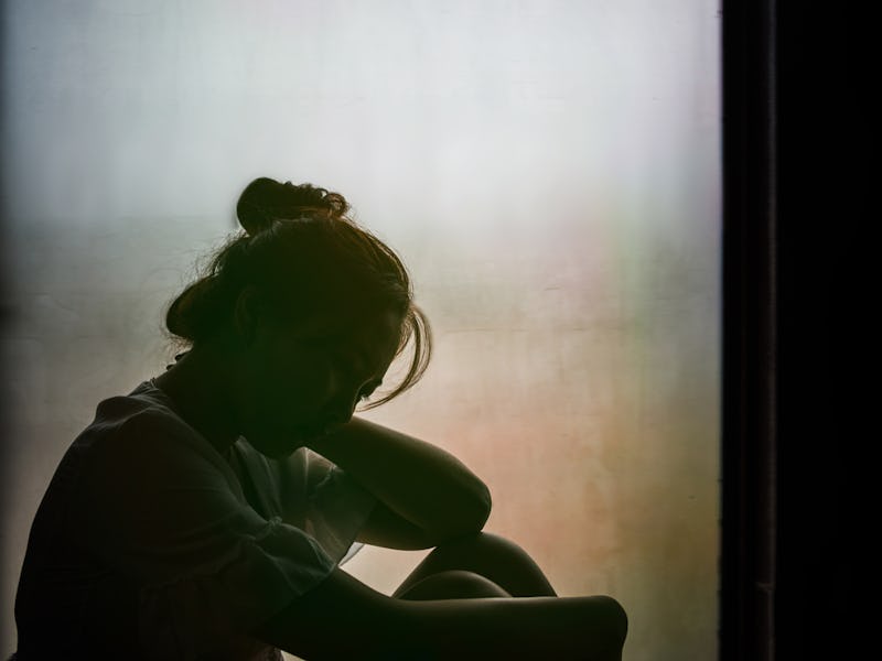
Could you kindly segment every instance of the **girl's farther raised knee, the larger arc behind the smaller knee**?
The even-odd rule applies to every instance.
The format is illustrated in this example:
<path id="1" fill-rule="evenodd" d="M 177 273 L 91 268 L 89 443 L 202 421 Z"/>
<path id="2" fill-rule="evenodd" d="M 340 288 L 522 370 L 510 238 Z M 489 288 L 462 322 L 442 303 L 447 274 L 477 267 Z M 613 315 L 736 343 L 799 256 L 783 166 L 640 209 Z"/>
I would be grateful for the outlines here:
<path id="1" fill-rule="evenodd" d="M 499 535 L 478 532 L 440 544 L 392 596 L 404 598 L 416 584 L 432 574 L 453 570 L 484 576 L 513 597 L 553 597 L 557 594 L 524 549 Z"/>

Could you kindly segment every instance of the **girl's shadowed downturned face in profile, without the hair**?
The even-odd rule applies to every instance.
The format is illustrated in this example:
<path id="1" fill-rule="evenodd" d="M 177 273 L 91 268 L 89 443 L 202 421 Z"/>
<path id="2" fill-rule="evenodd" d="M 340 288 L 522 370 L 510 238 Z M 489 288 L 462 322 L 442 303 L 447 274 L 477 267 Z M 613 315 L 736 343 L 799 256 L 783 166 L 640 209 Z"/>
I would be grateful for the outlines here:
<path id="1" fill-rule="evenodd" d="M 262 322 L 248 347 L 243 435 L 281 458 L 347 422 L 381 383 L 400 330 L 394 313 Z"/>

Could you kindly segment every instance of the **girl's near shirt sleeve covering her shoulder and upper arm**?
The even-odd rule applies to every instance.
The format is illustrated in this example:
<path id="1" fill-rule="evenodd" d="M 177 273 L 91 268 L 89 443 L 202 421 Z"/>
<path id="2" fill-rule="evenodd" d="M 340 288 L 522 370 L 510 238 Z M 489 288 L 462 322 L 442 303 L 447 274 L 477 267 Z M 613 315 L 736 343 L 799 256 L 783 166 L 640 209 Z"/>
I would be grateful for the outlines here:
<path id="1" fill-rule="evenodd" d="M 247 635 L 336 564 L 304 530 L 259 516 L 223 457 L 155 410 L 93 445 L 68 511 L 78 543 L 138 585 L 148 659 Z"/>

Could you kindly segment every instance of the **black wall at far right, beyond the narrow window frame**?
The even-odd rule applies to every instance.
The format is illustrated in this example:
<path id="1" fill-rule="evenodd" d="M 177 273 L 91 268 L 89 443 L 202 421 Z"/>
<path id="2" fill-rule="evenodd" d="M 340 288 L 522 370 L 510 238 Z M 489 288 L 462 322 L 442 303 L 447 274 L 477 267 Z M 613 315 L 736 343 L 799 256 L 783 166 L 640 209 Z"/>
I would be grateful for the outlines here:
<path id="1" fill-rule="evenodd" d="M 878 629 L 878 25 L 811 2 L 781 3 L 778 25 L 775 644 L 862 659 Z"/>

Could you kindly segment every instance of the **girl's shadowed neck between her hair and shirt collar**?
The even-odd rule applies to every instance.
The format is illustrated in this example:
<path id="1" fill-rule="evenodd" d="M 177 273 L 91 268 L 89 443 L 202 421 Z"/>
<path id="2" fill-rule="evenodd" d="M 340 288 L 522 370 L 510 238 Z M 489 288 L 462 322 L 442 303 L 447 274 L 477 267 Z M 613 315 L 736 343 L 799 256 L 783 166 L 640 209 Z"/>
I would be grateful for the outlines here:
<path id="1" fill-rule="evenodd" d="M 220 454 L 239 437 L 227 362 L 211 348 L 194 347 L 153 379 L 184 421 Z"/>

